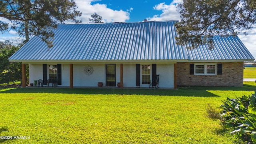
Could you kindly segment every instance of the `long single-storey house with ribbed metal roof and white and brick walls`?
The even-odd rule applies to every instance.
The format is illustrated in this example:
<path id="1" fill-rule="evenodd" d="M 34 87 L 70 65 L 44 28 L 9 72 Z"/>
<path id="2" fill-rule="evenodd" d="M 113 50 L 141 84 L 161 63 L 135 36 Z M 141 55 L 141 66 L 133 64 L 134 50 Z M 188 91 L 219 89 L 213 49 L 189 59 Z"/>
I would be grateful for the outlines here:
<path id="1" fill-rule="evenodd" d="M 61 24 L 52 48 L 33 37 L 9 60 L 22 62 L 23 78 L 29 65 L 30 83 L 55 78 L 71 88 L 148 87 L 156 74 L 160 88 L 243 86 L 243 62 L 254 57 L 237 36 L 214 36 L 213 50 L 189 50 L 176 44 L 175 22 Z"/>

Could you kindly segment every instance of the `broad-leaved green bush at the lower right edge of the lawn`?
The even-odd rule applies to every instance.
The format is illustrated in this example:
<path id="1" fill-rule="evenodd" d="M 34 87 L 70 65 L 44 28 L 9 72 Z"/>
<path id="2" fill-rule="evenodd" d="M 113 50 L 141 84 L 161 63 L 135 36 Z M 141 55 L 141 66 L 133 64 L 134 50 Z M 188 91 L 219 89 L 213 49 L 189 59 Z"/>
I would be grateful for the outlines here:
<path id="1" fill-rule="evenodd" d="M 234 128 L 230 132 L 236 134 L 249 143 L 256 144 L 256 96 L 242 96 L 242 98 L 227 98 L 220 106 L 222 122 L 225 128 Z"/>

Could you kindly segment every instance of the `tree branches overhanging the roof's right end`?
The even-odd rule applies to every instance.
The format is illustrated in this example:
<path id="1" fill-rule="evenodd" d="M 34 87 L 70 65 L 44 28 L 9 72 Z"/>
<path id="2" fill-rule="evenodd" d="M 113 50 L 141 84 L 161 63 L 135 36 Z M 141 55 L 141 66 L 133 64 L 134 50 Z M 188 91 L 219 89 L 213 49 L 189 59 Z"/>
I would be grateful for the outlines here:
<path id="1" fill-rule="evenodd" d="M 256 24 L 255 0 L 183 0 L 178 4 L 181 21 L 176 23 L 177 43 L 208 43 L 213 48 L 214 35 L 237 35 Z"/>

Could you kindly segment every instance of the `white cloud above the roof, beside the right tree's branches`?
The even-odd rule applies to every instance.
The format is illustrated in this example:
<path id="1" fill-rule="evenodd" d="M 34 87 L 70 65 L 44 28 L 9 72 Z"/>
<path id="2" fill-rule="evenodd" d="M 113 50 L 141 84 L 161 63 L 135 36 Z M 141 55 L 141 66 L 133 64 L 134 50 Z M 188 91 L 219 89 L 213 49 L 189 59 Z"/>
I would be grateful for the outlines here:
<path id="1" fill-rule="evenodd" d="M 164 2 L 155 5 L 154 10 L 161 10 L 162 14 L 154 15 L 152 18 L 148 17 L 149 21 L 158 21 L 158 20 L 180 20 L 180 14 L 177 12 L 176 5 L 181 3 L 182 0 L 174 0 L 172 3 L 165 4 Z"/>

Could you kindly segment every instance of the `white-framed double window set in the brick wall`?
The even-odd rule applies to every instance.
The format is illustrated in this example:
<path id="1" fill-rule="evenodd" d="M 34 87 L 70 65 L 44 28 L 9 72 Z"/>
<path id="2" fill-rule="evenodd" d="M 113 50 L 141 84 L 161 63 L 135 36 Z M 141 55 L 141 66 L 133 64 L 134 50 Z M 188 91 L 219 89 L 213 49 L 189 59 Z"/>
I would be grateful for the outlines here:
<path id="1" fill-rule="evenodd" d="M 195 64 L 195 75 L 216 75 L 217 64 Z"/>

